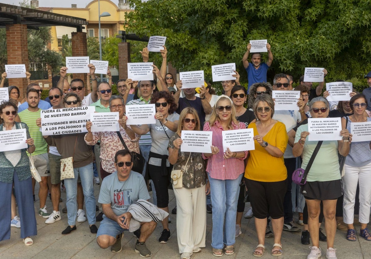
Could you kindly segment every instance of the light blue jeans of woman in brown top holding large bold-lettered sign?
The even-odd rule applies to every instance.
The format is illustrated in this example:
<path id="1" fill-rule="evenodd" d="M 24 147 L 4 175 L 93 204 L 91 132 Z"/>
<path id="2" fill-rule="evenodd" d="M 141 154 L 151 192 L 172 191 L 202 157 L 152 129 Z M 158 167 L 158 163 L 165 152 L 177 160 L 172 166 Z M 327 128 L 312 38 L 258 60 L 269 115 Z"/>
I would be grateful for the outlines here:
<path id="1" fill-rule="evenodd" d="M 80 176 L 82 191 L 85 199 L 86 217 L 89 225 L 95 224 L 95 197 L 93 184 L 93 163 L 79 168 L 73 168 L 75 178 L 65 179 L 67 195 L 68 225 L 75 226 L 77 217 L 77 179 Z"/>

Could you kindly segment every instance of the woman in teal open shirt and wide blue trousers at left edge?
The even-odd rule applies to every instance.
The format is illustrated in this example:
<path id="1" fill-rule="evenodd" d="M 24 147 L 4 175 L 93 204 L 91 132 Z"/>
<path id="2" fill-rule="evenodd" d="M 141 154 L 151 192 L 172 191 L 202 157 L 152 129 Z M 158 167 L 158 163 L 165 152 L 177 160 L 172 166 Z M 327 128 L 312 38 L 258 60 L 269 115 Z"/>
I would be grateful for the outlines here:
<path id="1" fill-rule="evenodd" d="M 29 153 L 35 151 L 33 139 L 26 124 L 15 122 L 17 105 L 14 102 L 3 102 L 0 105 L 0 131 L 26 129 L 27 148 L 0 152 L 0 241 L 10 239 L 11 197 L 13 185 L 17 200 L 20 223 L 20 237 L 26 246 L 33 244 L 30 236 L 37 235 L 35 208 L 32 199 L 32 177 Z M 10 140 L 12 141 L 12 140 Z"/>

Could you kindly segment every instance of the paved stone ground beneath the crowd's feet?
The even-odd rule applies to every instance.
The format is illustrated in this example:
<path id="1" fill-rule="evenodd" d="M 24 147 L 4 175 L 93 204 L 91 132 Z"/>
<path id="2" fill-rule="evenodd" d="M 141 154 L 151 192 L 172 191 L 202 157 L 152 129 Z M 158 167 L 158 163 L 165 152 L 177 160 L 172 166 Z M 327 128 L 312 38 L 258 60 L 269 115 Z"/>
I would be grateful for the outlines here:
<path id="1" fill-rule="evenodd" d="M 36 184 L 36 194 L 38 186 Z M 98 200 L 99 186 L 95 185 L 95 196 Z M 175 196 L 173 191 L 169 190 L 170 195 L 170 210 L 175 206 Z M 37 196 L 37 195 L 36 195 Z M 60 210 L 65 206 L 66 194 L 62 192 L 63 203 L 60 204 Z M 247 203 L 249 204 L 249 203 Z M 38 198 L 35 202 L 35 211 L 38 210 Z M 52 202 L 47 198 L 46 202 L 48 212 L 52 211 Z M 248 205 L 246 206 L 246 210 Z M 122 239 L 122 251 L 112 253 L 111 250 L 101 249 L 96 243 L 96 236 L 90 233 L 88 222 L 76 222 L 77 230 L 69 235 L 63 236 L 61 232 L 68 225 L 67 214 L 61 213 L 62 219 L 53 224 L 45 224 L 45 219 L 36 215 L 37 219 L 37 236 L 32 237 L 34 244 L 25 246 L 20 236 L 20 229 L 12 228 L 10 240 L 0 242 L 0 259 L 92 259 L 92 258 L 112 258 L 112 259 L 138 259 L 141 258 L 138 253 L 135 253 L 134 246 L 136 238 L 132 233 L 125 232 Z M 297 216 L 297 215 L 296 215 Z M 147 240 L 148 249 L 151 250 L 153 259 L 179 259 L 176 233 L 176 215 L 170 214 L 171 223 L 169 225 L 171 231 L 171 239 L 167 244 L 158 243 L 158 238 L 162 231 L 161 224 L 157 225 L 154 233 Z M 207 214 L 207 230 L 206 230 L 206 248 L 203 248 L 200 253 L 194 253 L 191 259 L 213 259 L 211 253 L 211 214 Z M 99 222 L 97 222 L 99 227 Z M 322 226 L 324 228 L 324 226 Z M 336 255 L 339 259 L 371 259 L 371 242 L 359 238 L 359 226 L 356 226 L 357 241 L 350 242 L 345 239 L 345 232 L 337 231 L 335 238 Z M 310 249 L 300 242 L 301 232 L 291 233 L 283 231 L 282 246 L 283 255 L 281 259 L 305 259 Z M 236 252 L 234 255 L 223 255 L 223 258 L 255 258 L 252 255 L 253 250 L 257 245 L 257 237 L 255 232 L 254 218 L 242 219 L 242 235 L 236 238 Z M 273 239 L 266 239 L 266 252 L 262 258 L 272 258 L 270 250 L 272 249 Z M 324 255 L 326 258 L 326 243 L 321 242 Z"/>

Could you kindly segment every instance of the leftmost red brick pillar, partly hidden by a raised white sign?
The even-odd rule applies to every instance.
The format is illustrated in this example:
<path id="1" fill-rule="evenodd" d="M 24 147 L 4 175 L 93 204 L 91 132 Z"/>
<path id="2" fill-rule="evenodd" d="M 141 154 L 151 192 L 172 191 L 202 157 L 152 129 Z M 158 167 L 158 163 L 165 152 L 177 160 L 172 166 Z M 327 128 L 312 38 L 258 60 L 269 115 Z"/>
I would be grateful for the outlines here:
<path id="1" fill-rule="evenodd" d="M 8 51 L 8 65 L 24 64 L 26 71 L 29 71 L 28 46 L 27 46 L 27 25 L 7 24 L 6 45 Z M 9 78 L 9 85 L 16 85 L 19 88 L 19 100 L 26 97 L 27 79 Z"/>

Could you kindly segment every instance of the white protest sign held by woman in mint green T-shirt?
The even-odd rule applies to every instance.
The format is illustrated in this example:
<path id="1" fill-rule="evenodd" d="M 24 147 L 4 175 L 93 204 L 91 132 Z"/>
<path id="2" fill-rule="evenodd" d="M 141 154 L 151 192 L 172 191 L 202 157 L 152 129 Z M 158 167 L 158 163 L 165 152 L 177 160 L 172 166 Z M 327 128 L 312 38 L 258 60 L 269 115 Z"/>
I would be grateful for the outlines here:
<path id="1" fill-rule="evenodd" d="M 309 141 L 340 140 L 341 118 L 308 118 Z"/>

